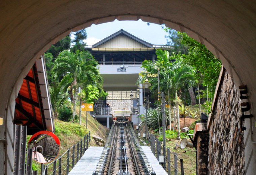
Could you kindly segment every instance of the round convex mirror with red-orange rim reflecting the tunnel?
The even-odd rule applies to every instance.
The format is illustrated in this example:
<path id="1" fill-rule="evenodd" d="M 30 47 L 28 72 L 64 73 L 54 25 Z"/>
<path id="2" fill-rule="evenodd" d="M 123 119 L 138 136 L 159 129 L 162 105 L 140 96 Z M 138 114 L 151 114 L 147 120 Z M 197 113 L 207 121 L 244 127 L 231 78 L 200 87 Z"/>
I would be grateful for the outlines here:
<path id="1" fill-rule="evenodd" d="M 38 163 L 50 163 L 59 154 L 60 140 L 50 131 L 39 131 L 28 141 L 28 150 L 32 149 L 32 159 Z"/>

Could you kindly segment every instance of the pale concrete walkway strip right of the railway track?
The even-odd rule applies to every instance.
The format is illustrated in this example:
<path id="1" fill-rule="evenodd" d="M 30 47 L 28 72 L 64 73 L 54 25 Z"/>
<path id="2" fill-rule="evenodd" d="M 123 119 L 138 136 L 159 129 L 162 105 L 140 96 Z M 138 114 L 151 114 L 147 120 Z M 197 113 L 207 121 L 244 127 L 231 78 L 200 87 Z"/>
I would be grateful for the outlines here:
<path id="1" fill-rule="evenodd" d="M 141 146 L 145 154 L 147 155 L 147 158 L 155 171 L 157 175 L 168 175 L 167 172 L 163 169 L 161 165 L 159 165 L 158 160 L 154 156 L 153 152 L 151 151 L 149 146 Z"/>

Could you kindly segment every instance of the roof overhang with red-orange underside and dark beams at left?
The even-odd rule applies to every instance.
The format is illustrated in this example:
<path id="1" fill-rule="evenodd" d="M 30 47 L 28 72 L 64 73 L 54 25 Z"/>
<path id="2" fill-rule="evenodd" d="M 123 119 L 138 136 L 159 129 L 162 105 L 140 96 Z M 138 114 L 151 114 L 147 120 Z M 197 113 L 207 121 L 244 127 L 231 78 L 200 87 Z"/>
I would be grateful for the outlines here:
<path id="1" fill-rule="evenodd" d="M 15 101 L 14 124 L 28 126 L 28 135 L 41 130 L 54 132 L 54 118 L 43 57 L 35 61 L 23 79 Z"/>

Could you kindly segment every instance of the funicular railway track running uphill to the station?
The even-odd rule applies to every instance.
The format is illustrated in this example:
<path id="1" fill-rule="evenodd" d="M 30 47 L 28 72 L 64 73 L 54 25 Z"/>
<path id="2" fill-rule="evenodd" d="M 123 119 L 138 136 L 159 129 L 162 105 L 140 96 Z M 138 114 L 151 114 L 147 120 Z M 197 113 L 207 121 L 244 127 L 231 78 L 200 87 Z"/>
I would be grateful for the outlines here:
<path id="1" fill-rule="evenodd" d="M 126 119 L 111 127 L 93 175 L 155 175 Z"/>

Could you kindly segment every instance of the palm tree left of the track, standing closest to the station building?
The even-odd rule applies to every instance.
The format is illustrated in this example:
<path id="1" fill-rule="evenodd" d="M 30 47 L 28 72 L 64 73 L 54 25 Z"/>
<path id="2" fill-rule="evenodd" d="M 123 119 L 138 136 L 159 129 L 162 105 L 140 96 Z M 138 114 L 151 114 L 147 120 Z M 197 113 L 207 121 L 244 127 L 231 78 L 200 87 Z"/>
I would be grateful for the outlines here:
<path id="1" fill-rule="evenodd" d="M 81 54 L 83 63 L 81 66 L 81 72 L 77 76 L 77 85 L 81 88 L 81 94 L 83 94 L 83 89 L 89 84 L 97 84 L 97 82 L 102 79 L 99 74 L 98 62 L 93 59 L 93 56 L 89 52 L 83 52 Z M 79 125 L 81 125 L 81 115 L 82 115 L 82 101 L 85 95 L 79 98 Z"/>

